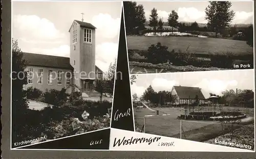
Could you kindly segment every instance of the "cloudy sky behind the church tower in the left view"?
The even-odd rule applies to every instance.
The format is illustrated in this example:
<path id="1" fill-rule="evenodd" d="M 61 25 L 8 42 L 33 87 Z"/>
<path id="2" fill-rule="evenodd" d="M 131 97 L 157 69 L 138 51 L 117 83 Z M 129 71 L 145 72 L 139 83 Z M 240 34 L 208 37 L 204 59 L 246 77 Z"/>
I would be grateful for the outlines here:
<path id="1" fill-rule="evenodd" d="M 107 71 L 115 62 L 121 2 L 13 2 L 12 37 L 23 52 L 69 57 L 69 29 L 74 20 L 96 29 L 96 65 Z"/>

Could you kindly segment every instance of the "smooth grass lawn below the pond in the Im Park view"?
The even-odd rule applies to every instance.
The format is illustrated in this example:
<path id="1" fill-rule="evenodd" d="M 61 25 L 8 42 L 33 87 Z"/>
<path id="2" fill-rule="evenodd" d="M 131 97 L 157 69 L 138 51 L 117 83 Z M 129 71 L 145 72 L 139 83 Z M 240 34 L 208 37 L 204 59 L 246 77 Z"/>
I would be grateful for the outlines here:
<path id="1" fill-rule="evenodd" d="M 169 50 L 186 50 L 196 54 L 231 52 L 234 55 L 253 54 L 253 48 L 246 41 L 198 38 L 198 37 L 146 37 L 127 36 L 128 49 L 147 50 L 151 44 L 160 42 L 169 47 Z"/>

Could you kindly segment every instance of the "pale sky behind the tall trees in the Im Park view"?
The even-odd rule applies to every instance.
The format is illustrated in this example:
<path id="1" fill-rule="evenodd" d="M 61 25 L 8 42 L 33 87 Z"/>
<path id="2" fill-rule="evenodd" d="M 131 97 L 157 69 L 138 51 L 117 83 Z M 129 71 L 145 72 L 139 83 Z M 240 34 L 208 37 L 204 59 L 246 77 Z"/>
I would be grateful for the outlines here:
<path id="1" fill-rule="evenodd" d="M 231 9 L 235 12 L 233 24 L 238 23 L 253 23 L 253 2 L 252 1 L 232 1 Z M 175 10 L 178 15 L 178 21 L 184 22 L 200 22 L 206 23 L 205 8 L 208 6 L 209 2 L 199 1 L 199 2 L 137 2 L 137 4 L 142 4 L 145 10 L 145 16 L 149 20 L 151 10 L 155 7 L 158 11 L 158 16 L 162 17 L 164 21 L 167 21 L 168 14 Z"/>

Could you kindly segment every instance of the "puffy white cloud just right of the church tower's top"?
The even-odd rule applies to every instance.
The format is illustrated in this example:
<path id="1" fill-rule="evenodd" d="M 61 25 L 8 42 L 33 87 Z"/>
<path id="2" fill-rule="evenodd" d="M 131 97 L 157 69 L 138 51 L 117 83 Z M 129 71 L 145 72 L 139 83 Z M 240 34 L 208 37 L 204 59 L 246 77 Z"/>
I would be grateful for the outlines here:
<path id="1" fill-rule="evenodd" d="M 119 34 L 120 18 L 112 18 L 109 14 L 98 14 L 93 17 L 92 23 L 97 28 L 96 35 L 101 38 L 112 39 Z"/>

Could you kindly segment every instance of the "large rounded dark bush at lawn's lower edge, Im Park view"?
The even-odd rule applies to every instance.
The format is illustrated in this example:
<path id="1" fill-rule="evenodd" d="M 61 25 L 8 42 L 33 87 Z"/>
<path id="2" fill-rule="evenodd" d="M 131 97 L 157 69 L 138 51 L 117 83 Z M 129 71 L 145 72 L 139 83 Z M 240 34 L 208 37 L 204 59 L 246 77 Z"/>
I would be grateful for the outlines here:
<path id="1" fill-rule="evenodd" d="M 147 49 L 147 61 L 153 64 L 166 63 L 169 59 L 169 51 L 167 46 L 161 45 L 158 42 L 156 45 L 152 44 Z"/>

